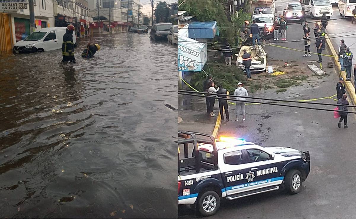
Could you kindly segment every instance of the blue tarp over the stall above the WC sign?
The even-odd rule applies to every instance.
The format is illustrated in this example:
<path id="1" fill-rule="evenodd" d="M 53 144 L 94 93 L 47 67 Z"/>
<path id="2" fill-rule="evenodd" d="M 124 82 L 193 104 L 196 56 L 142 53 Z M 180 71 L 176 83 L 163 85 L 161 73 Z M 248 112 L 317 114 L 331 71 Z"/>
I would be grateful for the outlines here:
<path id="1" fill-rule="evenodd" d="M 206 38 L 212 39 L 215 36 L 219 36 L 219 30 L 217 28 L 218 22 L 192 22 L 189 24 L 189 38 L 198 39 Z"/>

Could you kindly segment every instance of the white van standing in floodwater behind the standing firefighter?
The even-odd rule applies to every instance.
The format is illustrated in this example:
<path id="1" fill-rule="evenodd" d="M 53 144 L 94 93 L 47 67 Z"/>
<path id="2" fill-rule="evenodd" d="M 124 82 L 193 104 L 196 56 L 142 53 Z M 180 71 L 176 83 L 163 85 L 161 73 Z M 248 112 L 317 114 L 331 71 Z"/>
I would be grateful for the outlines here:
<path id="1" fill-rule="evenodd" d="M 25 39 L 14 44 L 14 53 L 45 52 L 62 48 L 63 35 L 67 27 L 46 27 L 28 35 Z M 77 42 L 75 31 L 73 42 Z"/>

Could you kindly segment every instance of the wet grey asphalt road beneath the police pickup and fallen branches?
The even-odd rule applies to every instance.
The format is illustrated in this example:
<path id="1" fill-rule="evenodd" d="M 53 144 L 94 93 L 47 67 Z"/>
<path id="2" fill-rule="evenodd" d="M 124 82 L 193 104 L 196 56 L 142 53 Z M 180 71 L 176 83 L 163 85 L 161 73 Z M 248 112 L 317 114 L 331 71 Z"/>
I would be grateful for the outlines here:
<path id="1" fill-rule="evenodd" d="M 281 11 L 285 1 L 277 1 Z M 302 26 L 289 25 L 287 40 L 300 39 Z M 313 38 L 313 36 L 312 36 Z M 303 42 L 279 43 L 280 46 L 303 49 Z M 316 49 L 313 47 L 312 52 Z M 268 56 L 283 61 L 295 60 L 301 63 L 317 60 L 316 55 L 303 57 L 303 52 L 266 46 Z M 329 61 L 323 58 L 323 64 Z M 296 67 L 299 68 L 299 67 Z M 310 77 L 316 82 L 312 86 L 305 82 L 303 86 L 288 88 L 286 92 L 276 94 L 267 90 L 250 96 L 277 97 L 291 100 L 321 98 L 336 94 L 335 85 L 338 74 L 326 69 L 330 76 Z M 306 72 L 310 75 L 310 72 Z M 336 103 L 331 99 L 318 102 Z M 315 106 L 315 105 L 312 105 Z M 235 106 L 229 106 L 230 117 L 235 117 Z M 334 107 L 325 107 L 334 108 Z M 304 182 L 303 190 L 296 195 L 283 191 L 258 194 L 251 197 L 223 200 L 220 210 L 209 219 L 218 218 L 255 218 L 255 219 L 346 219 L 355 218 L 356 197 L 353 188 L 356 185 L 356 165 L 354 145 L 355 116 L 349 114 L 349 128 L 339 129 L 337 119 L 332 112 L 304 110 L 290 107 L 268 105 L 246 106 L 246 121 L 225 122 L 221 125 L 221 135 L 245 138 L 262 146 L 287 146 L 310 151 L 311 172 Z M 189 207 L 179 206 L 179 218 L 194 218 Z"/>

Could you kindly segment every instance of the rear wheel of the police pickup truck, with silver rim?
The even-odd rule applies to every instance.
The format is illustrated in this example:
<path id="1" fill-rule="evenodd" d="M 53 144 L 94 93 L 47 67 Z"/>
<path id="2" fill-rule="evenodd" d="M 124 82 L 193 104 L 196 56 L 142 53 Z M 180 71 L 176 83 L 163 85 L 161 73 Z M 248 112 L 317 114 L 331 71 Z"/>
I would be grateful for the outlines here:
<path id="1" fill-rule="evenodd" d="M 214 191 L 206 191 L 199 195 L 197 209 L 201 215 L 210 216 L 215 214 L 220 207 L 220 197 Z"/>

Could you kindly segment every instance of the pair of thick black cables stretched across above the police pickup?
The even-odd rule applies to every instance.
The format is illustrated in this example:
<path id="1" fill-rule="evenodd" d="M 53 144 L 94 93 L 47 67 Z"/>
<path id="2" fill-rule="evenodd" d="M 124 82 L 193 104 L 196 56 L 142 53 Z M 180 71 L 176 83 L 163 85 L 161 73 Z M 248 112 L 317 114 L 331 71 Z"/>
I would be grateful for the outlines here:
<path id="1" fill-rule="evenodd" d="M 202 95 L 199 95 L 199 94 L 188 94 L 188 93 L 184 93 L 184 92 L 178 92 L 178 95 L 205 97 L 205 96 L 202 96 Z M 347 112 L 347 113 L 356 114 L 356 112 L 353 112 L 353 111 L 330 110 L 330 109 L 325 109 L 325 108 L 316 108 L 316 107 L 307 107 L 307 106 L 295 106 L 295 105 L 270 103 L 270 102 L 261 102 L 261 101 L 236 100 L 236 99 L 229 99 L 229 98 L 224 98 L 224 97 L 211 97 L 211 98 L 216 98 L 216 99 L 220 99 L 220 100 L 229 100 L 229 101 L 235 101 L 235 102 L 237 101 L 237 102 L 246 102 L 246 103 L 260 103 L 260 104 L 273 105 L 273 106 L 285 106 L 285 107 L 294 107 L 294 108 L 301 108 L 301 109 L 308 109 L 308 110 L 321 110 L 321 111 L 329 111 L 329 112 L 335 112 L 336 111 L 336 112 Z M 339 106 L 343 106 L 343 105 L 339 105 Z M 348 106 L 348 105 L 346 105 L 346 106 Z"/>

